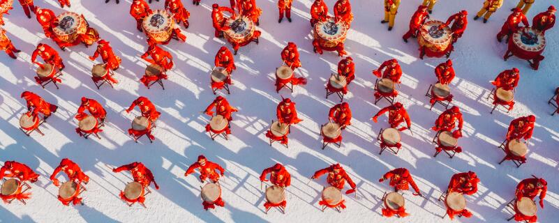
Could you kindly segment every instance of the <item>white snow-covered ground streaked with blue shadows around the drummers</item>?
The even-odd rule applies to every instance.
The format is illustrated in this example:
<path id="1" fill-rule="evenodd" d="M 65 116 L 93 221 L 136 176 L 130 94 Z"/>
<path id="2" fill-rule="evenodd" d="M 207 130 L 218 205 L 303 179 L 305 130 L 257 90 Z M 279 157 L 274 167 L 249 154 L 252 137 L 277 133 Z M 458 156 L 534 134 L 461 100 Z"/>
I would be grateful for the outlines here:
<path id="1" fill-rule="evenodd" d="M 117 70 L 120 83 L 115 89 L 107 86 L 98 91 L 90 79 L 93 63 L 87 59 L 94 52 L 83 46 L 70 47 L 61 56 L 66 63 L 61 89 L 54 86 L 41 89 L 33 81 L 30 54 L 38 43 L 54 43 L 45 38 L 33 17 L 28 20 L 16 2 L 11 15 L 5 17 L 8 36 L 15 46 L 22 49 L 17 60 L 0 55 L 0 160 L 17 160 L 28 164 L 42 177 L 33 185 L 33 197 L 27 206 L 18 202 L 0 205 L 0 222 L 448 222 L 441 220 L 444 205 L 437 201 L 447 187 L 450 176 L 456 172 L 476 171 L 481 184 L 479 192 L 468 197 L 468 209 L 474 213 L 470 219 L 455 222 L 505 222 L 510 213 L 505 204 L 514 196 L 519 180 L 535 174 L 546 178 L 549 191 L 545 208 L 539 207 L 539 222 L 556 222 L 559 219 L 559 144 L 558 117 L 550 116 L 553 108 L 546 104 L 553 95 L 559 66 L 559 32 L 547 33 L 546 59 L 538 71 L 531 70 L 526 61 L 510 59 L 502 61 L 506 50 L 504 43 L 495 40 L 509 9 L 517 1 L 505 1 L 505 5 L 491 17 L 487 24 L 473 21 L 472 17 L 482 6 L 482 0 L 439 1 L 431 17 L 446 20 L 459 10 L 468 10 L 470 24 L 463 38 L 456 45 L 451 58 L 457 77 L 452 83 L 454 105 L 464 114 L 464 135 L 459 144 L 464 152 L 449 159 L 442 154 L 433 158 L 434 147 L 430 143 L 435 134 L 430 130 L 440 114 L 440 106 L 428 110 L 425 97 L 428 85 L 435 82 L 433 68 L 445 59 L 417 58 L 417 43 L 405 44 L 401 36 L 408 30 L 408 22 L 421 0 L 402 1 L 396 25 L 387 31 L 382 18 L 382 1 L 352 1 L 355 20 L 345 41 L 346 50 L 357 64 L 357 79 L 350 86 L 347 101 L 353 112 L 352 125 L 343 132 L 341 148 L 329 146 L 322 151 L 320 125 L 327 122 L 329 107 L 338 103 L 335 97 L 325 99 L 325 81 L 334 72 L 340 58 L 334 53 L 313 53 L 311 29 L 308 24 L 312 1 L 298 0 L 293 3 L 293 22 L 277 23 L 276 1 L 259 0 L 264 14 L 260 17 L 262 37 L 260 44 L 242 47 L 235 56 L 238 70 L 234 72 L 234 86 L 227 95 L 233 106 L 239 108 L 232 122 L 229 141 L 212 141 L 204 131 L 207 116 L 200 114 L 214 95 L 209 88 L 209 70 L 213 68 L 218 48 L 227 45 L 223 39 L 214 38 L 210 8 L 213 1 L 202 1 L 192 6 L 184 0 L 191 12 L 191 26 L 186 30 L 186 43 L 172 41 L 164 46 L 174 56 L 175 67 L 165 82 L 165 91 L 158 86 L 146 89 L 138 79 L 146 63 L 140 55 L 147 49 L 145 36 L 135 29 L 135 21 L 128 15 L 130 0 L 105 4 L 103 0 L 72 1 L 71 11 L 83 13 L 89 24 L 111 42 L 114 51 L 123 59 Z M 52 8 L 59 14 L 54 0 L 36 0 L 36 6 Z M 229 1 L 220 0 L 225 6 Z M 551 1 L 537 1 L 528 13 L 529 20 L 546 10 Z M 331 9 L 334 1 L 328 0 Z M 151 3 L 151 8 L 163 8 L 163 0 Z M 184 27 L 181 27 L 184 30 Z M 297 87 L 295 93 L 274 91 L 273 72 L 281 65 L 280 52 L 288 43 L 299 45 L 303 68 L 302 75 L 308 85 Z M 371 70 L 382 61 L 396 58 L 404 75 L 397 100 L 403 102 L 413 122 L 414 135 L 403 132 L 403 151 L 397 156 L 391 153 L 378 155 L 376 136 L 380 128 L 387 126 L 386 118 L 373 123 L 371 116 L 387 105 L 381 101 L 373 105 Z M 518 67 L 521 81 L 516 90 L 516 107 L 509 114 L 489 114 L 491 103 L 486 95 L 491 91 L 489 81 L 500 71 Z M 44 137 L 33 134 L 25 136 L 20 130 L 18 118 L 26 111 L 22 91 L 33 91 L 45 100 L 59 105 L 57 112 L 42 126 Z M 162 112 L 157 138 L 149 144 L 143 138 L 136 144 L 126 130 L 137 114 L 126 114 L 124 109 L 138 95 L 147 96 Z M 290 148 L 274 144 L 270 147 L 264 132 L 271 119 L 280 95 L 297 102 L 299 116 L 304 119 L 292 128 Z M 103 139 L 83 139 L 74 131 L 77 122 L 73 118 L 80 98 L 86 96 L 101 102 L 107 109 L 108 124 L 100 135 Z M 517 169 L 512 162 L 498 165 L 504 153 L 497 148 L 504 139 L 512 118 L 535 114 L 537 127 L 530 141 L 528 163 Z M 227 169 L 222 181 L 225 208 L 205 211 L 200 200 L 200 181 L 197 174 L 183 176 L 184 171 L 197 155 Z M 66 207 L 57 201 L 57 187 L 47 179 L 60 160 L 69 157 L 91 177 L 88 191 L 83 194 L 85 206 Z M 148 195 L 147 209 L 140 206 L 129 208 L 119 199 L 120 190 L 130 181 L 128 174 L 113 174 L 107 167 L 130 162 L 143 162 L 154 172 L 161 190 Z M 292 186 L 288 188 L 287 213 L 277 210 L 264 214 L 264 197 L 258 176 L 262 169 L 276 162 L 285 164 L 292 174 Z M 347 209 L 343 213 L 318 206 L 325 178 L 308 183 L 308 177 L 317 169 L 340 162 L 358 185 L 358 198 L 345 197 Z M 405 193 L 406 208 L 411 215 L 403 219 L 382 217 L 380 198 L 389 191 L 387 183 L 378 178 L 389 169 L 408 168 L 428 199 Z"/>

